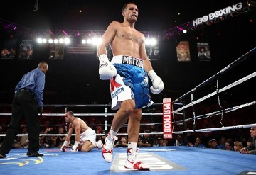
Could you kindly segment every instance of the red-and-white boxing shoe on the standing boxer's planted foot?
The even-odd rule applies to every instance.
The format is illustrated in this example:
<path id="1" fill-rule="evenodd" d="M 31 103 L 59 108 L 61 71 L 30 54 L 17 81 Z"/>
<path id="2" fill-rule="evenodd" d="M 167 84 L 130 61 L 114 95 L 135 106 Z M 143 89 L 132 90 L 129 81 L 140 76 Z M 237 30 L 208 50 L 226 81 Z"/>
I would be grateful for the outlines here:
<path id="1" fill-rule="evenodd" d="M 137 154 L 139 152 L 138 148 L 132 149 L 132 148 L 128 148 L 127 149 L 127 160 L 124 164 L 124 167 L 127 169 L 137 169 L 137 170 L 149 170 L 150 167 L 144 163 L 142 163 L 142 161 L 139 161 L 137 159 Z"/>

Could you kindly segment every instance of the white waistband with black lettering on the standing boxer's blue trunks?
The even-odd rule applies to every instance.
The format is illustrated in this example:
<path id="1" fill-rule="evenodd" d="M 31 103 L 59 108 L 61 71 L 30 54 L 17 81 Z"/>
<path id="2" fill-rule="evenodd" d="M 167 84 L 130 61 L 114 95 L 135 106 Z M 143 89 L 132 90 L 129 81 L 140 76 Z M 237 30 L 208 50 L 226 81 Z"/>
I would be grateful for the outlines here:
<path id="1" fill-rule="evenodd" d="M 144 61 L 142 59 L 139 59 L 137 57 L 131 57 L 131 56 L 127 56 L 127 55 L 118 55 L 118 56 L 114 56 L 111 60 L 111 62 L 117 63 L 117 64 L 130 64 L 130 65 L 134 65 L 137 67 L 142 67 L 143 69 L 143 63 Z"/>

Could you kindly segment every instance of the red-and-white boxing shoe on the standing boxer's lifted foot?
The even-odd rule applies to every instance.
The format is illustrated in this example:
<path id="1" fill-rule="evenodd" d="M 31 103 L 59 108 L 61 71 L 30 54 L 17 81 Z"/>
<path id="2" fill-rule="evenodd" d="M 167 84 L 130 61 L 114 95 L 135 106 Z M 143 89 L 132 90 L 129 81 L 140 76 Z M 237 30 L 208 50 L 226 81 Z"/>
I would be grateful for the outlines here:
<path id="1" fill-rule="evenodd" d="M 102 147 L 102 157 L 107 163 L 110 163 L 113 160 L 113 147 L 115 140 L 118 140 L 117 136 L 112 138 L 110 134 L 105 138 L 105 144 Z"/>

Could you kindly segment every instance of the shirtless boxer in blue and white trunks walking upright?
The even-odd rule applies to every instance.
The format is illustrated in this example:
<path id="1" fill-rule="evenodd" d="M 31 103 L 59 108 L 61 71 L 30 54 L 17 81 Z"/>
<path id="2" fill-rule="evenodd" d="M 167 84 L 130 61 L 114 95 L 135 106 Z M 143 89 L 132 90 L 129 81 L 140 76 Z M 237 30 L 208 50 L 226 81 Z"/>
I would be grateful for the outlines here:
<path id="1" fill-rule="evenodd" d="M 100 79 L 110 79 L 112 109 L 119 109 L 102 147 L 102 156 L 106 162 L 112 162 L 117 132 L 129 119 L 127 161 L 124 166 L 128 169 L 148 170 L 149 166 L 137 159 L 142 108 L 153 103 L 149 94 L 148 77 L 152 81 L 150 90 L 153 94 L 161 93 L 164 83 L 156 75 L 146 56 L 144 35 L 134 28 L 138 11 L 136 4 L 125 4 L 122 9 L 124 22 L 112 21 L 102 36 L 102 43 L 97 47 Z M 114 55 L 111 62 L 107 58 L 108 45 Z"/>

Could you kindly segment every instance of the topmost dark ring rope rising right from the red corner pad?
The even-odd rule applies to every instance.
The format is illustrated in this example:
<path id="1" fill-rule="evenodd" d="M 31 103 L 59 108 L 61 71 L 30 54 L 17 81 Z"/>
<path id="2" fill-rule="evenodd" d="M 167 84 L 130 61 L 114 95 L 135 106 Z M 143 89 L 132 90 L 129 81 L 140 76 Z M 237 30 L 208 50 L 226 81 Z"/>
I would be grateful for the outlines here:
<path id="1" fill-rule="evenodd" d="M 183 96 L 180 96 L 179 98 L 174 100 L 173 103 L 176 103 L 177 101 L 181 101 L 181 99 L 183 99 L 186 96 L 188 96 L 189 94 L 193 93 L 193 91 L 201 89 L 206 84 L 210 84 L 214 79 L 219 77 L 221 74 L 224 74 L 225 72 L 228 72 L 230 69 L 232 69 L 233 67 L 235 67 L 238 64 L 240 64 L 240 62 L 245 61 L 247 59 L 247 57 L 250 57 L 250 55 L 252 55 L 254 52 L 256 52 L 256 47 L 254 47 L 252 50 L 250 50 L 249 52 L 247 52 L 244 55 L 242 55 L 241 57 L 239 57 L 237 60 L 235 60 L 234 62 L 229 64 L 227 67 L 224 67 L 223 69 L 221 69 L 219 72 L 214 74 L 212 77 L 206 79 L 206 81 L 203 81 L 203 83 L 201 83 L 198 86 L 196 86 L 195 88 L 191 89 L 191 91 L 188 91 L 186 94 L 183 94 Z"/>

